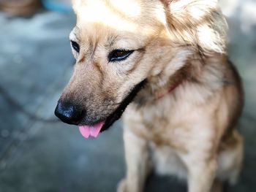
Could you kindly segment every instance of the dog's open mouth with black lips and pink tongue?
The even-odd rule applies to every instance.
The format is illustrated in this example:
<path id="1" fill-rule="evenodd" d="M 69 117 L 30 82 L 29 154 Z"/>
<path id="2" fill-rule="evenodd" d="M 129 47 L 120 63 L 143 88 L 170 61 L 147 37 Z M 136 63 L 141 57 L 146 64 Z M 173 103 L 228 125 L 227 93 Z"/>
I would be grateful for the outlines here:
<path id="1" fill-rule="evenodd" d="M 83 137 L 85 137 L 86 139 L 89 139 L 89 137 L 96 138 L 99 136 L 100 132 L 106 131 L 108 128 L 110 128 L 110 126 L 112 126 L 113 123 L 116 122 L 116 120 L 121 118 L 121 115 L 123 114 L 124 110 L 133 101 L 133 99 L 135 99 L 135 96 L 144 87 L 145 84 L 146 80 L 143 80 L 134 88 L 132 88 L 132 91 L 129 92 L 129 94 L 124 99 L 124 101 L 121 102 L 119 107 L 105 120 L 95 123 L 93 126 L 79 125 L 78 127 L 80 134 L 82 134 Z"/>

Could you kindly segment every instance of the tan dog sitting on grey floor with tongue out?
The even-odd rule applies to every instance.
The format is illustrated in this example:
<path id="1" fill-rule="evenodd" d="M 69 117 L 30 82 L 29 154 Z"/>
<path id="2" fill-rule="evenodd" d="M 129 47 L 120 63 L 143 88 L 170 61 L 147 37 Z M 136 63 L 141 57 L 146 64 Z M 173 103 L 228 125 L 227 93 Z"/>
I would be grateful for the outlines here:
<path id="1" fill-rule="evenodd" d="M 189 192 L 236 183 L 244 96 L 218 1 L 72 4 L 76 64 L 55 114 L 86 138 L 122 116 L 127 174 L 117 191 L 143 191 L 152 170 L 187 180 Z"/>

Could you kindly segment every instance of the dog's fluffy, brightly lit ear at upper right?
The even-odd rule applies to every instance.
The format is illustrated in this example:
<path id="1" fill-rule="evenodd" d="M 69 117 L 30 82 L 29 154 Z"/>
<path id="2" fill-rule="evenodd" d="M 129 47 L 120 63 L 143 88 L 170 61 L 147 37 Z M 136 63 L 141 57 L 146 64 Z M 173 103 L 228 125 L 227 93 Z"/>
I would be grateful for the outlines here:
<path id="1" fill-rule="evenodd" d="M 217 0 L 160 0 L 175 40 L 204 53 L 225 53 L 227 24 Z"/>

